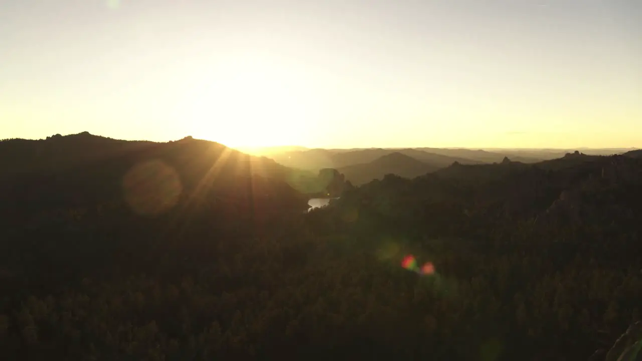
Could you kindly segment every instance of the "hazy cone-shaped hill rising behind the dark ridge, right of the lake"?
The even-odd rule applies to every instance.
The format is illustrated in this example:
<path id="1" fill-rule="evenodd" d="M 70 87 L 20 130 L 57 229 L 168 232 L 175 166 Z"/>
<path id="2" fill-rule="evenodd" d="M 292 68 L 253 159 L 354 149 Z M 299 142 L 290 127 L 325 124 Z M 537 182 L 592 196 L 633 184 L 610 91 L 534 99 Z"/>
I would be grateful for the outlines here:
<path id="1" fill-rule="evenodd" d="M 338 171 L 345 175 L 345 179 L 355 186 L 370 182 L 373 179 L 383 179 L 386 174 L 414 178 L 434 170 L 437 170 L 437 167 L 418 161 L 401 152 L 383 155 L 383 157 L 379 157 L 370 163 L 338 168 Z"/>

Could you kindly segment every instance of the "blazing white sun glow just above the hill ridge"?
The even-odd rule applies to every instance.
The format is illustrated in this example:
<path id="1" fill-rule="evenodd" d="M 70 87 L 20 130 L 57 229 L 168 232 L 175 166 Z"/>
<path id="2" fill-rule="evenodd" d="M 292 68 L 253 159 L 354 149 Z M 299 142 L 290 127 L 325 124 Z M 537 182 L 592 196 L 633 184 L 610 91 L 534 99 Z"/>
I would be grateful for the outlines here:
<path id="1" fill-rule="evenodd" d="M 239 62 L 194 87 L 184 107 L 193 136 L 231 147 L 295 145 L 312 107 L 302 84 L 279 67 Z"/>

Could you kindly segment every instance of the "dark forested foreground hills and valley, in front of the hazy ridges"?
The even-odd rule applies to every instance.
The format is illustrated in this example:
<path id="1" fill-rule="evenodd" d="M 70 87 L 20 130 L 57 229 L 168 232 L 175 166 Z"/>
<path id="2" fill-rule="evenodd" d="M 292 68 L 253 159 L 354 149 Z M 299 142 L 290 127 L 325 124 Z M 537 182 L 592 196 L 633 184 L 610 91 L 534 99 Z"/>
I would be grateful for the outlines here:
<path id="1" fill-rule="evenodd" d="M 189 138 L 2 141 L 2 358 L 605 360 L 641 319 L 635 155 L 354 188 Z"/>

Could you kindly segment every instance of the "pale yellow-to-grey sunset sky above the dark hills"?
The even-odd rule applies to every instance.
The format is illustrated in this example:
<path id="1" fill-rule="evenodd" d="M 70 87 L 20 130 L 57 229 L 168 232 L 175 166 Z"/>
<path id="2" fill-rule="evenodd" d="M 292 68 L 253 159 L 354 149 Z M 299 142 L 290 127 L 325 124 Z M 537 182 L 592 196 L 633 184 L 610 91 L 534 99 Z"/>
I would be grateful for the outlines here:
<path id="1" fill-rule="evenodd" d="M 0 0 L 0 139 L 642 147 L 640 0 Z"/>

